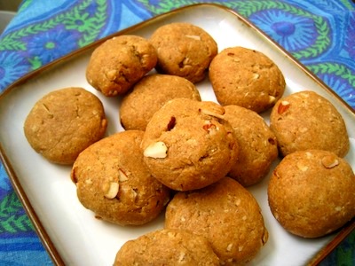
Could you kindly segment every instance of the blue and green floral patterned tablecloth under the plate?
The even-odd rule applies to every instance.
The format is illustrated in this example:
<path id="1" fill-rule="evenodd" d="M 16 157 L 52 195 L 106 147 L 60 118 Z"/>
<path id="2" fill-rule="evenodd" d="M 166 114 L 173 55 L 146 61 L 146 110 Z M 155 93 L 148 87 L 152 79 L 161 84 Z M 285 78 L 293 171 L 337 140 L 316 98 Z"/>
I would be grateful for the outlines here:
<path id="1" fill-rule="evenodd" d="M 0 35 L 0 90 L 69 51 L 163 12 L 225 5 L 252 21 L 355 108 L 351 0 L 25 0 Z M 0 163 L 0 264 L 51 265 Z M 355 232 L 321 265 L 355 265 Z"/>

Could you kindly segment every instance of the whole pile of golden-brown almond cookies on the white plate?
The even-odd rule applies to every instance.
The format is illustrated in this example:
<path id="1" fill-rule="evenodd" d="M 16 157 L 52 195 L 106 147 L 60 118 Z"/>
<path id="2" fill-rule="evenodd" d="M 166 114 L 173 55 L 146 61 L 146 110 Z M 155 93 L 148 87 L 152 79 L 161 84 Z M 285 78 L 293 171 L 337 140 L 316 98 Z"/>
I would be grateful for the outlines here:
<path id="1" fill-rule="evenodd" d="M 196 87 L 207 75 L 217 103 L 201 98 Z M 85 131 L 80 118 L 91 100 L 82 106 L 64 97 L 74 102 L 67 109 L 76 117 L 42 99 L 29 113 L 25 133 L 46 159 L 73 164 L 78 199 L 97 218 L 139 225 L 165 211 L 164 228 L 124 244 L 115 265 L 241 265 L 255 258 L 269 233 L 247 188 L 269 174 L 279 155 L 265 192 L 287 231 L 315 238 L 355 215 L 343 118 L 312 91 L 284 97 L 284 76 L 262 52 L 230 47 L 218 53 L 217 42 L 201 27 L 171 23 L 150 39 L 121 35 L 102 43 L 86 78 L 104 96 L 122 98 L 124 131 L 104 137 L 105 112 L 98 103 L 90 110 L 95 126 Z M 61 105 L 58 99 L 51 103 Z M 260 114 L 265 111 L 271 111 L 270 127 Z M 51 118 L 59 116 L 70 119 L 70 130 L 56 130 L 62 121 Z M 47 119 L 58 122 L 53 126 Z M 73 147 L 77 137 L 69 142 L 63 136 L 81 132 L 90 141 L 70 156 L 62 153 L 70 160 L 54 160 L 43 151 L 53 153 L 60 145 L 37 148 L 43 135 L 36 132 Z"/>

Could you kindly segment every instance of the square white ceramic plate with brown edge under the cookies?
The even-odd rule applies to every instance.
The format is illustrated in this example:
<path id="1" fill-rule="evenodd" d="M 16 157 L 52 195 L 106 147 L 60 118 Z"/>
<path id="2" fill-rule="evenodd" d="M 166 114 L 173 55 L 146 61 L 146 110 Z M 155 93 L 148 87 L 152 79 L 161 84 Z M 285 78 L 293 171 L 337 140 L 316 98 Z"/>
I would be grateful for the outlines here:
<path id="1" fill-rule="evenodd" d="M 353 111 L 307 72 L 304 66 L 234 12 L 217 5 L 198 4 L 148 20 L 119 34 L 149 37 L 155 28 L 174 21 L 190 22 L 204 28 L 217 41 L 219 51 L 238 45 L 264 52 L 280 66 L 286 77 L 285 95 L 306 89 L 328 98 L 342 113 L 346 122 L 351 137 L 351 151 L 346 159 L 355 168 Z M 85 209 L 76 198 L 75 184 L 69 178 L 71 168 L 44 160 L 34 152 L 24 137 L 23 123 L 36 101 L 51 90 L 70 86 L 83 87 L 99 96 L 106 108 L 109 122 L 107 134 L 122 130 L 118 117 L 119 99 L 103 97 L 85 80 L 85 68 L 97 45 L 98 43 L 94 43 L 91 47 L 77 51 L 26 77 L 0 98 L 0 142 L 4 164 L 44 245 L 51 256 L 54 256 L 54 262 L 61 263 L 62 259 L 67 265 L 112 265 L 114 255 L 126 240 L 162 228 L 163 222 L 163 215 L 153 223 L 139 227 L 120 227 L 95 219 L 91 211 Z M 203 100 L 216 100 L 207 79 L 198 83 L 197 87 Z M 266 121 L 268 114 L 264 113 Z M 263 210 L 270 235 L 267 244 L 250 264 L 305 264 L 334 239 L 335 233 L 320 239 L 301 239 L 284 231 L 273 218 L 267 204 L 268 179 L 269 176 L 261 184 L 249 189 Z M 50 239 L 47 239 L 47 235 Z"/>

